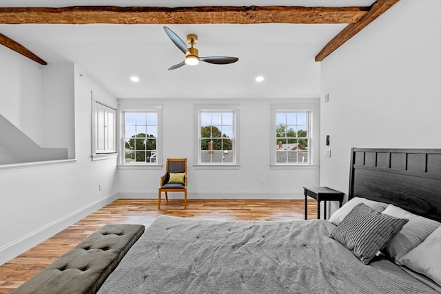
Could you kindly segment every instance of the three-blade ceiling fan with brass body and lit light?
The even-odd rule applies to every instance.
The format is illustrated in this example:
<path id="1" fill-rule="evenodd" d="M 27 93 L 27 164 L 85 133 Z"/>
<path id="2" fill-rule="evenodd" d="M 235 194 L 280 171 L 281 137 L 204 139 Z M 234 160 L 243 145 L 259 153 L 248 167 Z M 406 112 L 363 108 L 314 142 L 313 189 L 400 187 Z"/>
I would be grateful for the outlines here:
<path id="1" fill-rule="evenodd" d="M 178 37 L 170 28 L 164 27 L 165 32 L 172 40 L 174 45 L 176 45 L 182 52 L 185 54 L 185 59 L 183 62 L 173 65 L 168 70 L 176 70 L 176 68 L 181 67 L 183 65 L 196 65 L 199 61 L 205 61 L 207 63 L 213 64 L 229 64 L 238 61 L 237 57 L 228 57 L 228 56 L 209 56 L 209 57 L 199 57 L 198 50 L 193 47 L 198 43 L 198 36 L 196 34 L 188 34 L 187 35 L 187 43 L 189 43 L 190 48 L 187 48 L 185 42 L 182 41 L 181 38 Z"/>

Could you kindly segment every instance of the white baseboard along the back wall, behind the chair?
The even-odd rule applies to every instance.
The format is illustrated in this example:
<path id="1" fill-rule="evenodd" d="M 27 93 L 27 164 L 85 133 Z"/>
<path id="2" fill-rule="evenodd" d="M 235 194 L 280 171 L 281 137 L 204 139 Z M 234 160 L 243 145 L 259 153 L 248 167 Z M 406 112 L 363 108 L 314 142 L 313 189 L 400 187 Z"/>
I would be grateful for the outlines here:
<path id="1" fill-rule="evenodd" d="M 163 193 L 164 194 L 164 193 Z M 163 197 L 165 197 L 163 195 Z M 183 192 L 169 193 L 171 199 L 183 198 Z M 118 199 L 158 199 L 158 191 L 120 191 L 116 193 Z M 303 191 L 271 192 L 271 191 L 238 191 L 238 192 L 187 192 L 191 199 L 305 199 Z"/>

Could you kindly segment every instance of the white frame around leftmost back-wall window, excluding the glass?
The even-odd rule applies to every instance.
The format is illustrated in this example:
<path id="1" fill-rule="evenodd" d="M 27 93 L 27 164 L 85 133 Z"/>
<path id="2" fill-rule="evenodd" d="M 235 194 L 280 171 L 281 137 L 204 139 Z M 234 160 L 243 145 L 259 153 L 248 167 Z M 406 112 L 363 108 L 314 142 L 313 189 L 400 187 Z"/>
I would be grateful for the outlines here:
<path id="1" fill-rule="evenodd" d="M 120 120 L 119 123 L 119 132 L 118 136 L 120 138 L 119 144 L 119 169 L 162 169 L 163 167 L 163 107 L 162 105 L 145 105 L 144 103 L 135 103 L 138 104 L 137 108 L 132 106 L 132 101 L 127 99 L 126 101 L 120 103 L 120 109 L 118 110 L 118 117 Z M 138 106 L 137 105 L 137 106 Z M 156 137 L 156 162 L 131 162 L 125 163 L 125 140 L 124 140 L 124 130 L 125 130 L 125 113 L 126 112 L 155 112 L 157 118 L 157 132 L 158 136 Z"/>

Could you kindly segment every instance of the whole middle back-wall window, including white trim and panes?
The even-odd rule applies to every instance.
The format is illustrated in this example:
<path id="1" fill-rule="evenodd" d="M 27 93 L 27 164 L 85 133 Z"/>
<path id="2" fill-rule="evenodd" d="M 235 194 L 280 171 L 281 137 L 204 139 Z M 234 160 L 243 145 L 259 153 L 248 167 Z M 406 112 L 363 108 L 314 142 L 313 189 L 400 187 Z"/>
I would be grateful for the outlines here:
<path id="1" fill-rule="evenodd" d="M 196 165 L 212 167 L 237 165 L 238 109 L 236 108 L 234 105 L 216 107 L 207 105 L 207 108 L 197 109 L 198 162 Z"/>

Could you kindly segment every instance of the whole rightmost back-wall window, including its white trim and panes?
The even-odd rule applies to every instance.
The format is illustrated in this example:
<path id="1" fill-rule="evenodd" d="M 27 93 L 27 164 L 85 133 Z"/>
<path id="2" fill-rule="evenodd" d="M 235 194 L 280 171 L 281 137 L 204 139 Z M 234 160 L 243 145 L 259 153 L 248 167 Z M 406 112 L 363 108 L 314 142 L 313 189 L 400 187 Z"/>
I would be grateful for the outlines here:
<path id="1" fill-rule="evenodd" d="M 311 166 L 318 157 L 318 103 L 271 105 L 271 167 Z M 317 113 L 317 114 L 316 114 Z M 316 129 L 314 129 L 314 127 Z"/>

